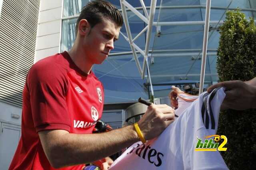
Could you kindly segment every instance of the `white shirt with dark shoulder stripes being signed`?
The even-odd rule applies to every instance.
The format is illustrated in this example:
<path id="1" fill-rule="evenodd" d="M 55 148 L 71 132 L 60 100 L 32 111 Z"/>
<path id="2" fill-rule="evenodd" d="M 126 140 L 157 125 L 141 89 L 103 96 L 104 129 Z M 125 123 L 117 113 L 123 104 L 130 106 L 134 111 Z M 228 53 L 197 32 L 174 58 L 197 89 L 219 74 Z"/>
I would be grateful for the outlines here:
<path id="1" fill-rule="evenodd" d="M 204 139 L 205 136 L 216 134 L 220 105 L 225 93 L 223 88 L 215 91 L 217 92 L 210 103 L 212 93 L 208 95 L 207 92 L 202 93 L 194 102 L 190 102 L 180 117 L 176 118 L 158 138 L 149 140 L 145 144 L 137 142 L 130 146 L 114 161 L 110 170 L 228 169 L 218 151 L 194 150 L 198 142 L 197 137 Z M 207 102 L 207 109 L 203 112 L 204 118 L 202 117 L 203 99 Z M 210 116 L 210 107 L 214 120 Z"/>

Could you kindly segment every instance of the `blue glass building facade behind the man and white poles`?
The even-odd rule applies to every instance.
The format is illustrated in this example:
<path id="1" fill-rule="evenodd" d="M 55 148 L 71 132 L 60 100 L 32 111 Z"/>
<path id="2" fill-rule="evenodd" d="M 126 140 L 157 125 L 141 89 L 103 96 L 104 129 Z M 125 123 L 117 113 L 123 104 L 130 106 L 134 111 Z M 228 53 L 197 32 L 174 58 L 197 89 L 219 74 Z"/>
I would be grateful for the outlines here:
<path id="1" fill-rule="evenodd" d="M 146 16 L 139 0 L 126 0 L 142 15 Z M 64 0 L 62 14 L 61 49 L 69 50 L 75 39 L 76 20 L 80 10 L 89 0 Z M 121 11 L 119 0 L 109 0 Z M 151 0 L 144 0 L 150 11 Z M 246 17 L 256 20 L 255 0 L 212 0 L 210 27 L 205 71 L 205 86 L 218 81 L 216 53 L 220 37 L 219 26 L 225 20 L 228 10 L 240 8 Z M 132 38 L 138 35 L 147 24 L 126 8 Z M 149 45 L 151 54 L 149 71 L 155 97 L 168 96 L 170 85 L 197 83 L 200 81 L 202 46 L 206 0 L 157 0 L 156 13 Z M 161 24 L 169 22 L 168 25 Z M 159 24 L 158 24 L 159 23 Z M 121 29 L 127 37 L 125 26 Z M 146 45 L 144 32 L 135 40 L 142 50 Z M 143 56 L 138 54 L 142 67 Z M 149 77 L 142 79 L 136 66 L 130 44 L 120 34 L 114 49 L 101 65 L 94 65 L 93 71 L 102 81 L 105 89 L 105 103 L 137 101 L 139 97 L 148 99 L 150 95 Z M 114 114 L 114 113 L 113 113 Z"/>

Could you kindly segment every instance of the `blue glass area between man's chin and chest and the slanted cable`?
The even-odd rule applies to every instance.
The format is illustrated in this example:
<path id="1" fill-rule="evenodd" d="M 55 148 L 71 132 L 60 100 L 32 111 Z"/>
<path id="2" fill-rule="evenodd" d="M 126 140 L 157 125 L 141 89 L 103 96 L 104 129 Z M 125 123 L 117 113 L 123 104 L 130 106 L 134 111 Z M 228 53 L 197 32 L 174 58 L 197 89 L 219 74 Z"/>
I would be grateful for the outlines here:
<path id="1" fill-rule="evenodd" d="M 138 57 L 142 65 L 143 57 Z M 132 54 L 109 56 L 101 65 L 94 65 L 94 73 L 103 83 L 105 103 L 148 99 L 145 80 L 141 79 Z"/>

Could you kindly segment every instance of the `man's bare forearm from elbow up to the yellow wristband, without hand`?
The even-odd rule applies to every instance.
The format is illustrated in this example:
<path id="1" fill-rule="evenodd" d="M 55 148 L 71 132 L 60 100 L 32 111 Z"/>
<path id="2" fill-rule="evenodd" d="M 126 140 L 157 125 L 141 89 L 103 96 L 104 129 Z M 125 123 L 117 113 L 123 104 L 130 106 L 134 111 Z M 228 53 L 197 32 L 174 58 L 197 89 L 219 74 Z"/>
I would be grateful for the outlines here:
<path id="1" fill-rule="evenodd" d="M 64 134 L 52 148 L 57 167 L 93 162 L 139 141 L 133 126 L 100 134 Z M 68 155 L 67 155 L 68 153 Z M 49 159 L 49 158 L 48 158 Z"/>

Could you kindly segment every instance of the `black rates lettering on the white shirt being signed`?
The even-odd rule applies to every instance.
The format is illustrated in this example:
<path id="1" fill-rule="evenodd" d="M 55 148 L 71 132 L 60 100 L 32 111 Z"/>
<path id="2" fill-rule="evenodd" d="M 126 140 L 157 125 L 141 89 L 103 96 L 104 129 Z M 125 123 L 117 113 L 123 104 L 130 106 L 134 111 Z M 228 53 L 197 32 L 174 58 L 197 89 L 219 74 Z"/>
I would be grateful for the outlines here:
<path id="1" fill-rule="evenodd" d="M 164 154 L 161 152 L 158 152 L 156 149 L 151 148 L 150 144 L 137 144 L 130 152 L 127 154 L 131 154 L 132 152 L 135 152 L 135 154 L 144 160 L 147 160 L 150 164 L 154 164 L 154 166 L 158 167 L 162 165 L 162 158 L 164 157 Z"/>

